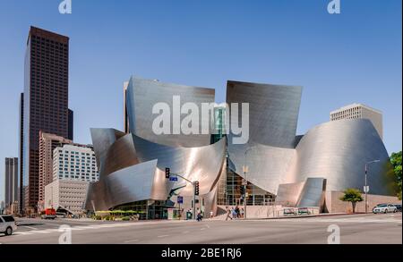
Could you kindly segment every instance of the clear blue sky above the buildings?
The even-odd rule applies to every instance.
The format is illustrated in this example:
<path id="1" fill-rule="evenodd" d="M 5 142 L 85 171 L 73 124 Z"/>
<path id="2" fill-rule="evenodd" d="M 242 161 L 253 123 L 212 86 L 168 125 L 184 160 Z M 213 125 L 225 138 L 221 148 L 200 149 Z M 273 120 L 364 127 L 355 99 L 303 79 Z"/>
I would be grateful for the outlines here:
<path id="1" fill-rule="evenodd" d="M 298 133 L 353 102 L 382 110 L 388 151 L 402 144 L 401 0 L 0 0 L 0 199 L 18 156 L 18 99 L 30 25 L 71 38 L 74 139 L 123 128 L 131 74 L 216 89 L 227 80 L 304 86 Z"/>

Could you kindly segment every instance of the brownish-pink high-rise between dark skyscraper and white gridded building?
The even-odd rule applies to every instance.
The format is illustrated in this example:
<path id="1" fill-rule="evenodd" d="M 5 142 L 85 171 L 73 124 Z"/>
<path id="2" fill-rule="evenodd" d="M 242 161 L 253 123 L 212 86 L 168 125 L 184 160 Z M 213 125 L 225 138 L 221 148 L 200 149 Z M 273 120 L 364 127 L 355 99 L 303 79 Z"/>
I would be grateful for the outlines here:
<path id="1" fill-rule="evenodd" d="M 53 150 L 71 143 L 70 139 L 39 131 L 39 202 L 45 199 L 45 187 L 53 182 Z"/>

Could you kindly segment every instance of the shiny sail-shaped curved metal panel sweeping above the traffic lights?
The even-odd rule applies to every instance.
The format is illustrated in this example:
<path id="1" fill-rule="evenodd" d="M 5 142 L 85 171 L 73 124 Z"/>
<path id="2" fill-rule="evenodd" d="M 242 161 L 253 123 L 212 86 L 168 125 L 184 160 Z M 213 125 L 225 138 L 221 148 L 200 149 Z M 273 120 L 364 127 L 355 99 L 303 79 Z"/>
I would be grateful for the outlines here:
<path id="1" fill-rule="evenodd" d="M 141 139 L 133 135 L 134 146 L 141 162 L 158 159 L 158 167 L 171 169 L 190 181 L 200 182 L 201 195 L 209 193 L 218 182 L 222 165 L 225 162 L 226 139 L 201 148 L 171 148 Z M 185 186 L 179 179 L 174 188 Z M 181 195 L 193 195 L 193 186 L 187 185 L 181 190 Z"/>

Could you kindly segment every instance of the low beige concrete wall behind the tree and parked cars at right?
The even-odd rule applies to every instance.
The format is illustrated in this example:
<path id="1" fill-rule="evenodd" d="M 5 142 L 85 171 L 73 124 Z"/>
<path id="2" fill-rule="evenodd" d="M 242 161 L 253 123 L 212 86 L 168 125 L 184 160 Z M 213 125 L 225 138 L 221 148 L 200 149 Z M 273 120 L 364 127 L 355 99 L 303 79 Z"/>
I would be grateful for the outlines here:
<path id="1" fill-rule="evenodd" d="M 326 191 L 326 207 L 329 213 L 352 213 L 353 207 L 350 202 L 339 200 L 343 196 L 341 191 Z M 364 194 L 363 194 L 364 198 Z M 372 211 L 373 207 L 378 204 L 401 204 L 396 197 L 368 195 L 368 210 Z M 356 212 L 365 212 L 365 202 L 356 203 Z"/>

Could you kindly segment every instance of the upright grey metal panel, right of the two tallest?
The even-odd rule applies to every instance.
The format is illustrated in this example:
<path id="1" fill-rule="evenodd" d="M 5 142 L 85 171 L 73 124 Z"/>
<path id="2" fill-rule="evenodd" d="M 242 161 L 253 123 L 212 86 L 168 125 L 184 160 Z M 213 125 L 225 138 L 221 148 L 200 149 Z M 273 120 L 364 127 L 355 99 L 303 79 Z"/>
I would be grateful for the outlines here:
<path id="1" fill-rule="evenodd" d="M 250 140 L 271 147 L 294 148 L 301 96 L 302 87 L 227 82 L 228 104 L 249 103 Z"/>

